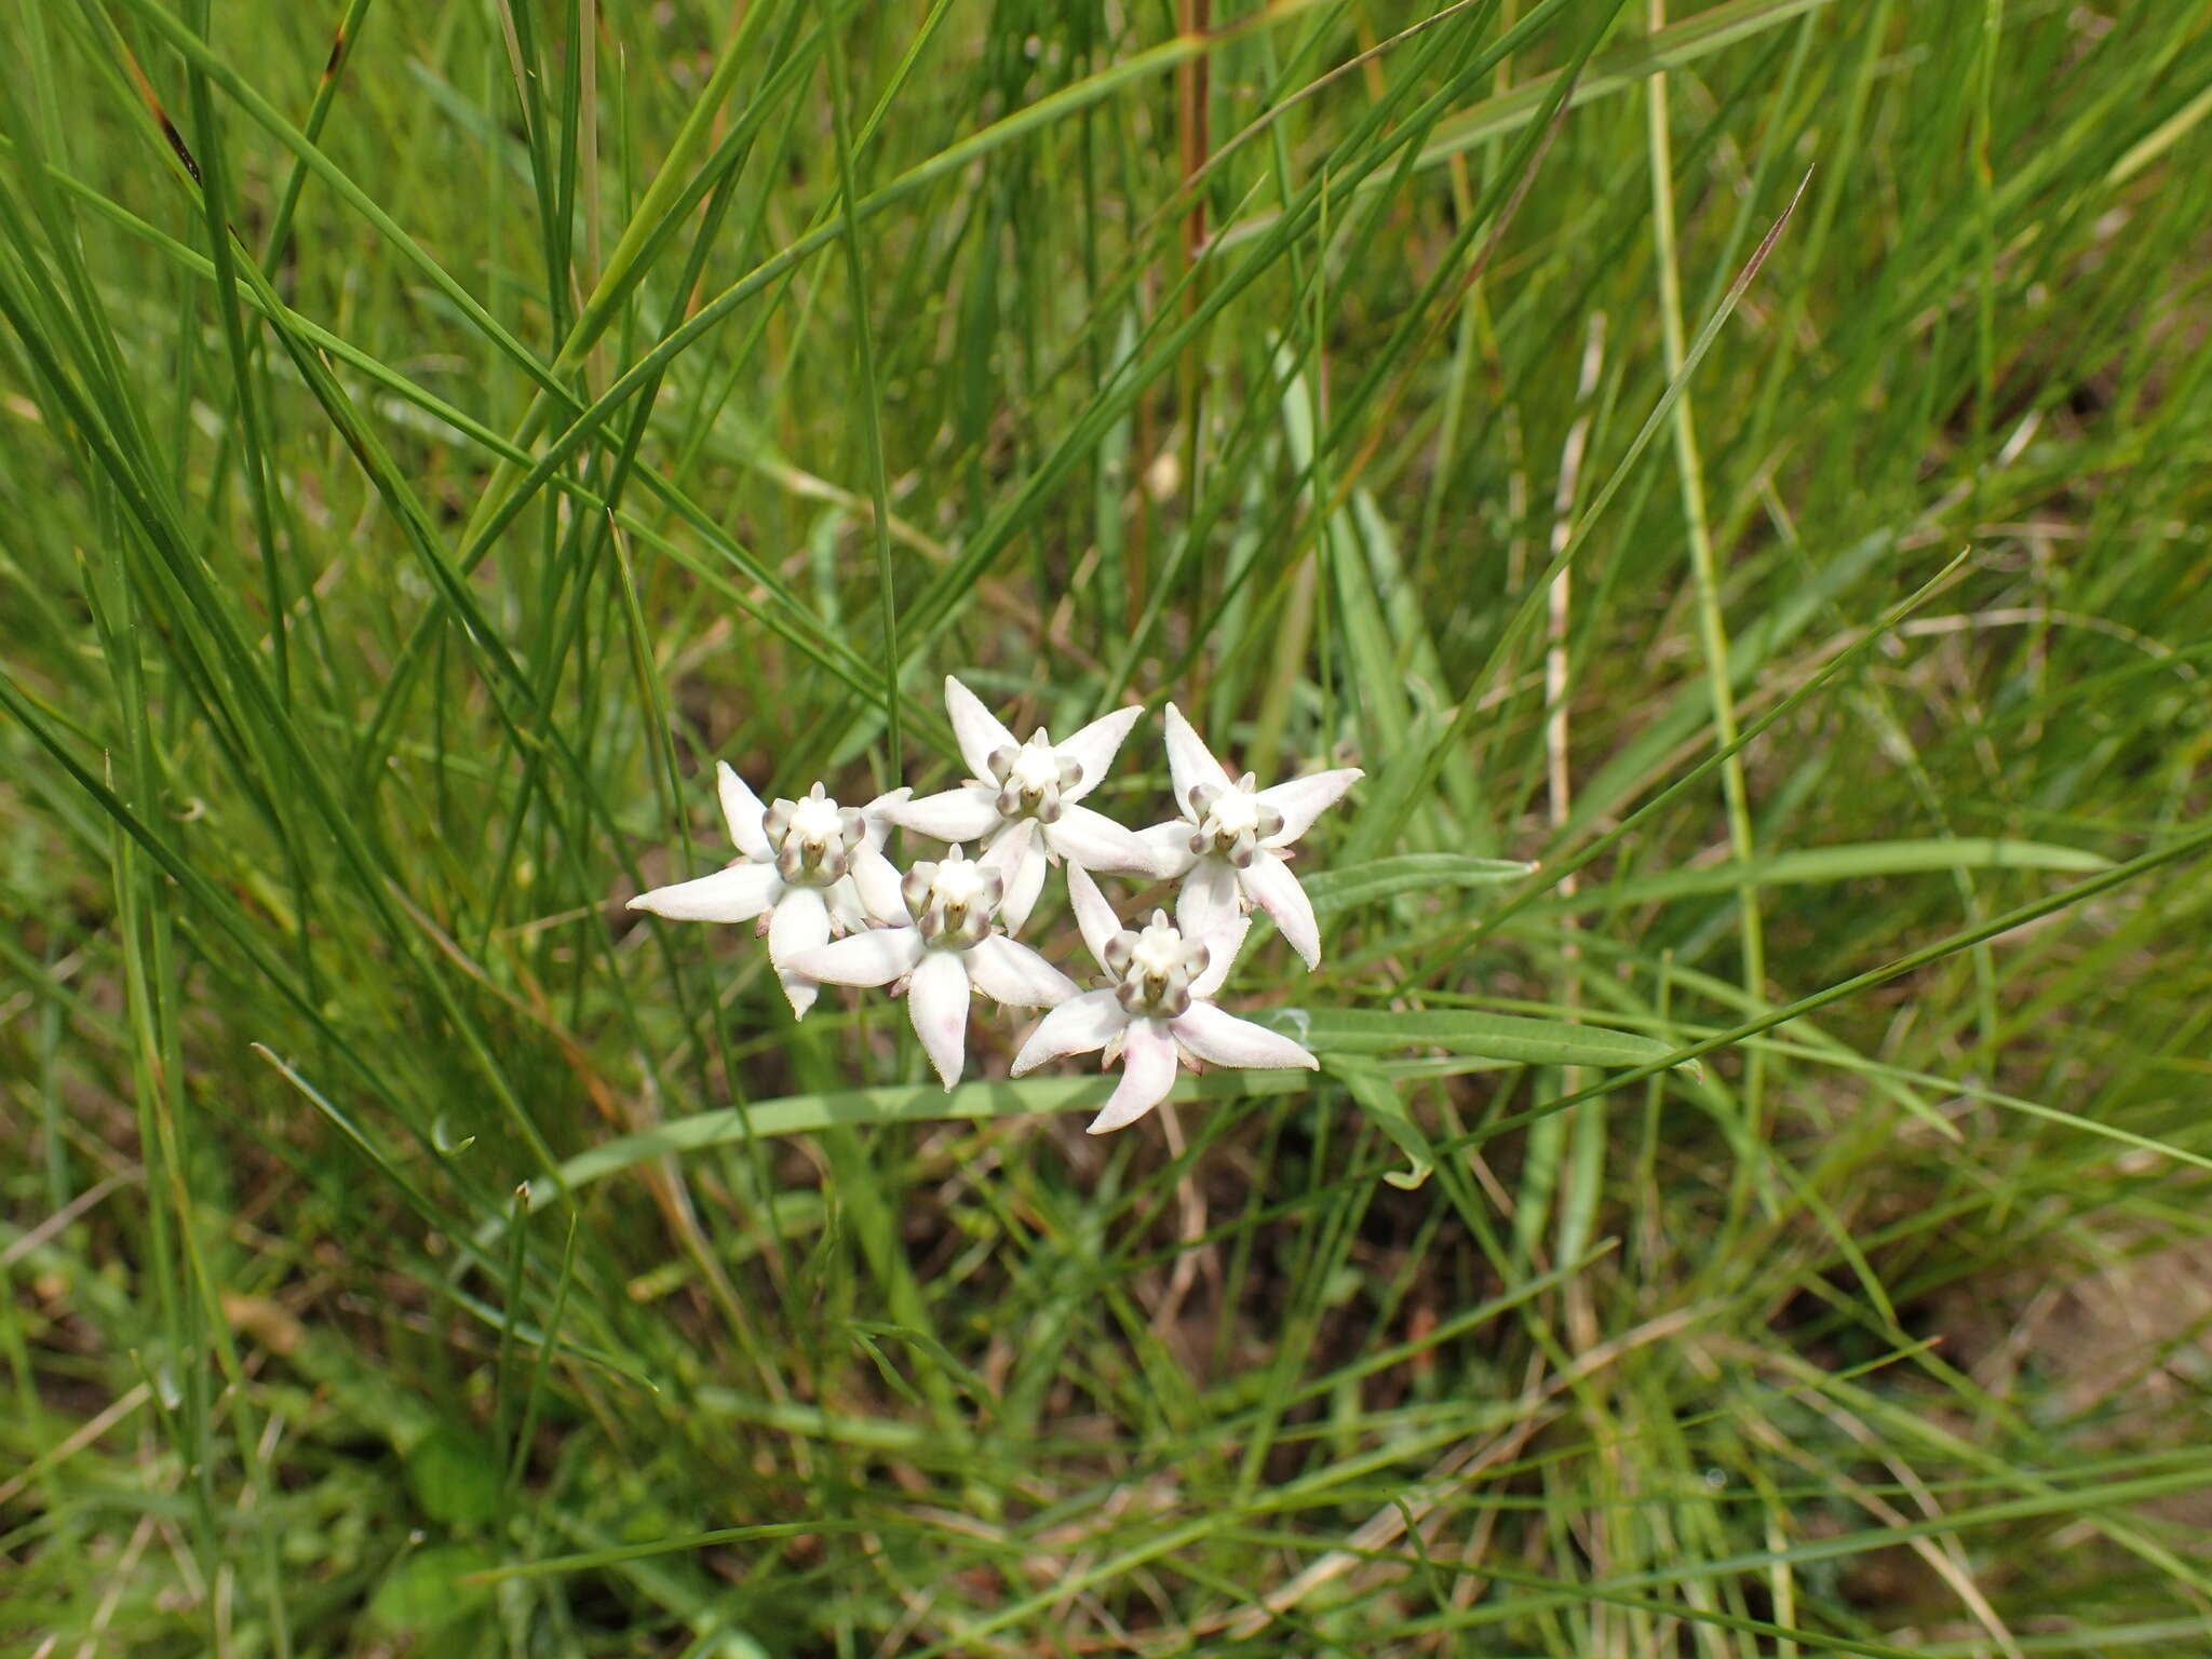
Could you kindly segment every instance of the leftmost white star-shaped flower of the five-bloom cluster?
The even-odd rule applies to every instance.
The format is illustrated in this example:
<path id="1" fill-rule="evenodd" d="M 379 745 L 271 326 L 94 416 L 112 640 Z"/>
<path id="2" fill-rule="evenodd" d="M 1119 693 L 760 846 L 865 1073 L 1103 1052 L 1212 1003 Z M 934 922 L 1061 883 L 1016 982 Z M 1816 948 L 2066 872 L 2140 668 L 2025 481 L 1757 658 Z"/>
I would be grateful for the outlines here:
<path id="1" fill-rule="evenodd" d="M 792 958 L 838 933 L 867 927 L 872 916 L 905 916 L 898 905 L 898 872 L 883 856 L 887 805 L 902 803 L 896 790 L 867 807 L 841 807 L 816 783 L 799 801 L 761 805 L 745 781 L 717 763 L 721 816 L 730 841 L 743 854 L 728 869 L 675 887 L 655 887 L 630 900 L 679 922 L 750 922 L 761 918 L 768 960 L 792 1000 L 792 1013 L 814 1006 L 816 987 L 792 969 Z"/>

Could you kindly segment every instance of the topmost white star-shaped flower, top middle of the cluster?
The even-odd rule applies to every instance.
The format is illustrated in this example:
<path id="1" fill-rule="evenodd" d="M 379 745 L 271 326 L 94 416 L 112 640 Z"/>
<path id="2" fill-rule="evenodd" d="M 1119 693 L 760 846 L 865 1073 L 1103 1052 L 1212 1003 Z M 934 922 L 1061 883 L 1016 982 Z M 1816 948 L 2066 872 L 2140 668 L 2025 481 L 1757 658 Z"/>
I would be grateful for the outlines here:
<path id="1" fill-rule="evenodd" d="M 973 776 L 956 790 L 889 805 L 885 816 L 936 841 L 987 845 L 1006 869 L 1004 927 L 1020 931 L 1029 922 L 1051 860 L 1124 876 L 1152 874 L 1152 852 L 1135 832 L 1077 805 L 1106 776 L 1141 708 L 1117 708 L 1064 743 L 1055 743 L 1044 728 L 1020 743 L 975 692 L 947 675 L 945 712 Z"/>

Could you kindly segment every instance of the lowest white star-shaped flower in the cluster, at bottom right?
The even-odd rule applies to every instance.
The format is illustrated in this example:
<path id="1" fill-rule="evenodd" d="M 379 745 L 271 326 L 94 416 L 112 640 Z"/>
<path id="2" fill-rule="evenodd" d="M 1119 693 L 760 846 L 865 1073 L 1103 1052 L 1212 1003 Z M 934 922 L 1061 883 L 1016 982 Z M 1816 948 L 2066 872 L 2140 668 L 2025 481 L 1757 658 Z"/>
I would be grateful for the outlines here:
<path id="1" fill-rule="evenodd" d="M 1210 1060 L 1217 1066 L 1321 1066 L 1290 1037 L 1214 1006 L 1212 995 L 1252 925 L 1245 916 L 1232 909 L 1203 940 L 1183 936 L 1166 911 L 1152 911 L 1152 925 L 1141 933 L 1124 931 L 1082 867 L 1068 869 L 1068 898 L 1084 945 L 1113 982 L 1068 998 L 1044 1015 L 1013 1057 L 1013 1075 L 1093 1048 L 1106 1051 L 1106 1064 L 1119 1053 L 1121 1082 L 1091 1119 L 1093 1135 L 1135 1124 L 1159 1106 L 1175 1088 L 1179 1064 Z"/>

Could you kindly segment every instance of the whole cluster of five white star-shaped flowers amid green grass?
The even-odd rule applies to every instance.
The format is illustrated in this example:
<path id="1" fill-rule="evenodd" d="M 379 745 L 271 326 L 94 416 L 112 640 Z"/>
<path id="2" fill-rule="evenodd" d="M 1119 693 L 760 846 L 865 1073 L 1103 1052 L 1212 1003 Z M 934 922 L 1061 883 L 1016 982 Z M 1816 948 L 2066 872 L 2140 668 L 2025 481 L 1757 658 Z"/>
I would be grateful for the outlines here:
<path id="1" fill-rule="evenodd" d="M 1119 1060 L 1121 1082 L 1091 1124 L 1093 1135 L 1152 1110 L 1183 1064 L 1316 1064 L 1290 1037 L 1225 1013 L 1214 995 L 1254 907 L 1274 918 L 1307 967 L 1321 962 L 1321 929 L 1290 874 L 1290 847 L 1360 779 L 1356 768 L 1261 790 L 1250 772 L 1230 779 L 1168 703 L 1168 776 L 1181 816 L 1130 832 L 1082 801 L 1141 708 L 1119 708 L 1064 741 L 1040 728 L 1022 743 L 967 686 L 947 679 L 945 712 L 973 776 L 920 801 L 894 790 L 845 807 L 816 783 L 801 801 L 763 807 L 721 765 L 721 812 L 737 863 L 639 894 L 630 909 L 697 922 L 757 920 L 799 1018 L 823 984 L 902 991 L 914 1035 L 947 1088 L 967 1066 L 971 991 L 1048 1009 L 1013 1057 L 1013 1075 L 1064 1055 L 1104 1051 L 1104 1064 Z M 883 852 L 894 827 L 949 843 L 949 852 L 900 876 Z M 1013 938 L 1029 925 L 1053 865 L 1066 865 L 1075 925 L 1104 969 L 1091 991 Z M 1097 876 L 1179 883 L 1175 918 L 1155 909 L 1144 927 L 1121 927 Z"/>

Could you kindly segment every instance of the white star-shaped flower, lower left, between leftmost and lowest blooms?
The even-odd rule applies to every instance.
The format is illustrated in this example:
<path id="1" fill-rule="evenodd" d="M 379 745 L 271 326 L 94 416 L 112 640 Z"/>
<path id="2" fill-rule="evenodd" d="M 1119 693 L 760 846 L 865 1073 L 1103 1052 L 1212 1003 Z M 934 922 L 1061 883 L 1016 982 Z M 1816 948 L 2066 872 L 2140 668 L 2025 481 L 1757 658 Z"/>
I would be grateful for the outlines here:
<path id="1" fill-rule="evenodd" d="M 825 984 L 905 980 L 914 1035 L 951 1088 L 967 1064 L 971 989 L 1018 1009 L 1048 1009 L 1075 995 L 1066 973 L 993 925 L 1004 896 L 1006 874 L 998 860 L 967 858 L 953 847 L 942 860 L 905 874 L 894 896 L 900 900 L 896 927 L 818 945 L 792 967 Z"/>

